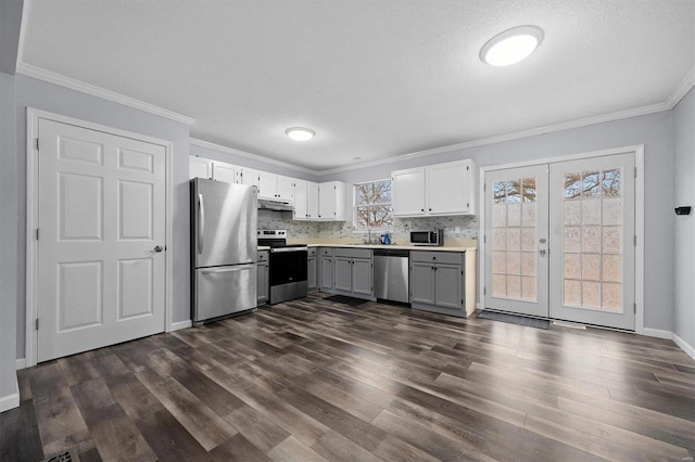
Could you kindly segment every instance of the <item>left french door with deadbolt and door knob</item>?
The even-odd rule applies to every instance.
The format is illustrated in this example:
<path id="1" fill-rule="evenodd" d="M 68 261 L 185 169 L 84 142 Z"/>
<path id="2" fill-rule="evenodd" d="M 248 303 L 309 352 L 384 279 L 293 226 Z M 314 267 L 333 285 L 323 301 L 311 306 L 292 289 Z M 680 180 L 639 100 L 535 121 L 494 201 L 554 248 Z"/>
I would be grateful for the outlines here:
<path id="1" fill-rule="evenodd" d="M 547 165 L 485 174 L 485 307 L 548 316 Z"/>

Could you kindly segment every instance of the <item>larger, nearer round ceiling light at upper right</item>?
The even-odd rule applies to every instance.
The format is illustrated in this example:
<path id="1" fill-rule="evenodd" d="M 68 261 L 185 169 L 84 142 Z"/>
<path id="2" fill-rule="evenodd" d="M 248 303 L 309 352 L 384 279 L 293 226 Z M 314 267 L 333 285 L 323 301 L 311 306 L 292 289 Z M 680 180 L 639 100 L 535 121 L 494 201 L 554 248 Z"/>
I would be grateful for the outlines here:
<path id="1" fill-rule="evenodd" d="M 540 27 L 514 27 L 488 40 L 480 50 L 480 59 L 491 66 L 508 66 L 528 57 L 542 41 Z"/>

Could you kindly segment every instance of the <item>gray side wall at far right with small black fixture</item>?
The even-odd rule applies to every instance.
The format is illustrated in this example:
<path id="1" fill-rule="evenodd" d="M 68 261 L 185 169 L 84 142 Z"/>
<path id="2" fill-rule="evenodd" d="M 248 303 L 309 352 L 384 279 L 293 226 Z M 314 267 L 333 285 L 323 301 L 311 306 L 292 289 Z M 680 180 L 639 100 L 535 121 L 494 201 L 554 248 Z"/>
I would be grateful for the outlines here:
<path id="1" fill-rule="evenodd" d="M 673 110 L 675 193 L 672 207 L 690 205 L 675 221 L 675 310 L 673 332 L 695 349 L 695 89 Z"/>

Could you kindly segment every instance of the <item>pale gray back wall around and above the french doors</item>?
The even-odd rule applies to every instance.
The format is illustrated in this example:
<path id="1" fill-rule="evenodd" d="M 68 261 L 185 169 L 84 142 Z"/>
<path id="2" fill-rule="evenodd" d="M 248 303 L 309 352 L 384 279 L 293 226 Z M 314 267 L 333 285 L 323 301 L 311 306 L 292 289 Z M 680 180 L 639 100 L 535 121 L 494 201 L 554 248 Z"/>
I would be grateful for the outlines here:
<path id="1" fill-rule="evenodd" d="M 645 328 L 672 331 L 672 111 L 349 170 L 326 176 L 321 181 L 340 180 L 350 185 L 388 178 L 392 170 L 464 158 L 472 158 L 480 168 L 635 144 L 645 146 Z M 350 202 L 348 206 L 351 206 Z"/>

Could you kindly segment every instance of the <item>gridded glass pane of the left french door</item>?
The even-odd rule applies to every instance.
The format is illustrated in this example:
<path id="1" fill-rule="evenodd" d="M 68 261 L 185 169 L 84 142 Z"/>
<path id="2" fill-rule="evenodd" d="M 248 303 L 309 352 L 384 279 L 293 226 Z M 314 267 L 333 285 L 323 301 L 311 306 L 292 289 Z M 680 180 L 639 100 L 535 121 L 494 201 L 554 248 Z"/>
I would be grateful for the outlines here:
<path id="1" fill-rule="evenodd" d="M 492 295 L 536 301 L 535 178 L 495 181 L 492 210 Z"/>

